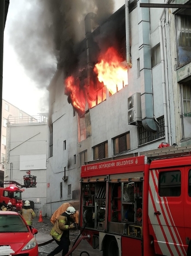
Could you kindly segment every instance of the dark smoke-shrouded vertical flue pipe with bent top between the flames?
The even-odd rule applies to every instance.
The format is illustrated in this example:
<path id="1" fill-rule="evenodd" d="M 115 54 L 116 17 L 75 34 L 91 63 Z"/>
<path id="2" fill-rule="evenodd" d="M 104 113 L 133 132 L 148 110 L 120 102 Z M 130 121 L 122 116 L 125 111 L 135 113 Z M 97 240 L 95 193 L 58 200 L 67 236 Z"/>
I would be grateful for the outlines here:
<path id="1" fill-rule="evenodd" d="M 93 53 L 93 38 L 92 38 L 92 24 L 91 20 L 96 18 L 96 14 L 88 13 L 85 16 L 85 32 L 86 32 L 86 52 L 87 52 L 87 96 L 89 100 L 96 100 L 95 96 L 91 94 L 93 88 L 91 87 L 91 78 L 93 73 L 93 61 L 92 61 L 92 53 Z M 86 104 L 86 109 L 88 110 L 88 104 Z"/>

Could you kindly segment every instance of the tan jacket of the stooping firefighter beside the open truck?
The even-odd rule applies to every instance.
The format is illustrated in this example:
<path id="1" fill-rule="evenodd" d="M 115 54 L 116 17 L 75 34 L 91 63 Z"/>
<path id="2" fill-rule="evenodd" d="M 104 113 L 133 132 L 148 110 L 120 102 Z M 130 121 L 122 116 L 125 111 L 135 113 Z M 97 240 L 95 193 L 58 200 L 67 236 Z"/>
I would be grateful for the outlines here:
<path id="1" fill-rule="evenodd" d="M 61 215 L 59 215 L 58 219 L 55 222 L 55 225 L 52 227 L 50 235 L 57 241 L 61 240 L 62 235 L 69 240 L 70 229 L 74 229 L 72 221 L 70 221 L 69 215 L 67 213 L 62 213 Z"/>

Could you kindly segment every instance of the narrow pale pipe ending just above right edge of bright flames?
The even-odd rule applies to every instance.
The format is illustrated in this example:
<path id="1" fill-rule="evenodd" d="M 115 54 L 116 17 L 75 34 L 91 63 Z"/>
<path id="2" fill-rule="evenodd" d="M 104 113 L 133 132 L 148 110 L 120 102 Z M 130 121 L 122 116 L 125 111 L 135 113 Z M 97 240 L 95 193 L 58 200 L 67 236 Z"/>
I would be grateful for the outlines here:
<path id="1" fill-rule="evenodd" d="M 128 67 L 132 67 L 130 62 L 130 36 L 129 36 L 129 0 L 126 0 L 126 62 Z"/>

